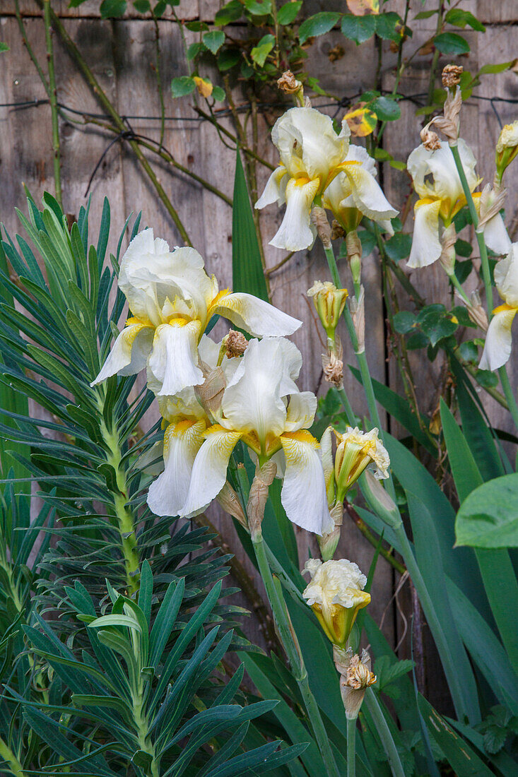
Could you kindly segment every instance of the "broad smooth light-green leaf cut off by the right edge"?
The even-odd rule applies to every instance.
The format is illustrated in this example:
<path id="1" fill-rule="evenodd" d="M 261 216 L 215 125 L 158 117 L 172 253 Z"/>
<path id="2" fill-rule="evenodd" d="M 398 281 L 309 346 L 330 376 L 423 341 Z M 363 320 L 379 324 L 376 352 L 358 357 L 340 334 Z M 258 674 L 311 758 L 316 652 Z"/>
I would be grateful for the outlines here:
<path id="1" fill-rule="evenodd" d="M 457 545 L 471 548 L 518 547 L 518 472 L 478 486 L 460 505 Z"/>

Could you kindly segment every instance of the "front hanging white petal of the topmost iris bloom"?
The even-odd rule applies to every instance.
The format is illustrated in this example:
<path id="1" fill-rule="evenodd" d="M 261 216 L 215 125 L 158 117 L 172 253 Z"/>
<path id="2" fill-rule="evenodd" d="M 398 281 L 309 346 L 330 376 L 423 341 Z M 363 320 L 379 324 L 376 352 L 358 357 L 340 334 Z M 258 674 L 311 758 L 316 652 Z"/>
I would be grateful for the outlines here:
<path id="1" fill-rule="evenodd" d="M 300 179 L 304 180 L 304 179 Z M 286 186 L 286 212 L 270 245 L 286 251 L 302 251 L 313 245 L 310 211 L 317 193 L 319 179 L 298 183 L 294 178 Z"/>

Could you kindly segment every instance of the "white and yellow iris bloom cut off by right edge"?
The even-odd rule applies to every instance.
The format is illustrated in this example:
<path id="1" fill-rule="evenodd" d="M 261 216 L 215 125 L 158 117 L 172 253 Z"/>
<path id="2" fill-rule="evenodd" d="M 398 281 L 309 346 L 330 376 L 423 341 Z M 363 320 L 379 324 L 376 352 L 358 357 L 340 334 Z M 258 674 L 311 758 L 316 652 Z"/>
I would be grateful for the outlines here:
<path id="1" fill-rule="evenodd" d="M 498 370 L 511 355 L 511 326 L 518 312 L 518 243 L 513 243 L 509 256 L 495 267 L 495 285 L 504 300 L 493 311 L 478 365 L 481 370 Z"/>

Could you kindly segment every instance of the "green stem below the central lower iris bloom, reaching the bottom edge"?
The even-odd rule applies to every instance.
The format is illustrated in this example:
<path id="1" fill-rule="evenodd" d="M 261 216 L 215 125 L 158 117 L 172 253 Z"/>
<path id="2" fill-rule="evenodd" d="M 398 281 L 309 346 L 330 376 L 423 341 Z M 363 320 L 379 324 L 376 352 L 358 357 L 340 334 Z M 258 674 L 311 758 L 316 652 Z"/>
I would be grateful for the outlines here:
<path id="1" fill-rule="evenodd" d="M 275 624 L 277 625 L 278 635 L 280 636 L 282 646 L 285 649 L 285 653 L 288 657 L 289 664 L 292 669 L 292 674 L 296 678 L 297 685 L 301 694 L 303 695 L 304 706 L 310 719 L 311 726 L 315 739 L 317 740 L 320 754 L 326 765 L 327 775 L 329 777 L 340 777 L 336 763 L 334 762 L 333 753 L 331 751 L 331 744 L 327 737 L 324 722 L 320 716 L 320 710 L 318 709 L 317 702 L 310 689 L 310 684 L 307 677 L 306 667 L 302 654 L 300 653 L 299 645 L 296 641 L 296 635 L 292 630 L 292 625 L 289 622 L 289 618 L 286 611 L 285 601 L 282 598 L 282 588 L 280 581 L 275 585 L 275 581 L 271 575 L 271 569 L 268 564 L 266 556 L 266 549 L 264 546 L 262 536 L 256 535 L 252 537 L 252 543 L 254 545 L 255 557 L 257 559 L 257 566 L 263 579 L 264 588 L 270 601 L 271 610 L 275 618 Z"/>

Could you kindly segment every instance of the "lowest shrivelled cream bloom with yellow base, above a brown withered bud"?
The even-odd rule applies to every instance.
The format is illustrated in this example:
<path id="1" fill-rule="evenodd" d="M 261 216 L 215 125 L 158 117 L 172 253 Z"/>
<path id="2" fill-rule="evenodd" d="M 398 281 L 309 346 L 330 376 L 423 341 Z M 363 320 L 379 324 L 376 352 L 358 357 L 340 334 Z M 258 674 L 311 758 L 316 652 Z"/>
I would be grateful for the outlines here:
<path id="1" fill-rule="evenodd" d="M 324 563 L 309 559 L 303 574 L 306 572 L 311 580 L 303 597 L 331 643 L 345 648 L 358 611 L 370 601 L 370 594 L 363 591 L 367 578 L 357 564 L 347 559 Z"/>

